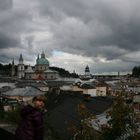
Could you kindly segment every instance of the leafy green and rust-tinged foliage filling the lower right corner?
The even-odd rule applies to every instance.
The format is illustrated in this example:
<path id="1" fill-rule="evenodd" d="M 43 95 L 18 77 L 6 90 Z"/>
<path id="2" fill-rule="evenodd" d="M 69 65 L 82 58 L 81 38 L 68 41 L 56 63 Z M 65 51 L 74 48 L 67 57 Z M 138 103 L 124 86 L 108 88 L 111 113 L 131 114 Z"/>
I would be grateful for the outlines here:
<path id="1" fill-rule="evenodd" d="M 123 99 L 124 94 L 118 94 L 114 105 L 108 111 L 111 119 L 106 127 L 102 127 L 101 131 L 94 130 L 90 125 L 90 120 L 95 118 L 87 110 L 81 102 L 77 107 L 77 112 L 88 119 L 83 119 L 80 128 L 73 128 L 75 132 L 75 140 L 138 140 L 140 134 L 138 132 L 138 119 L 133 110 L 132 105 L 126 104 Z M 125 137 L 125 134 L 128 134 Z"/>

